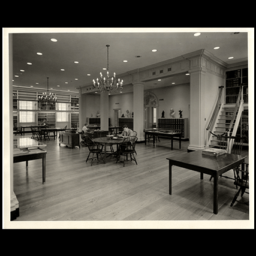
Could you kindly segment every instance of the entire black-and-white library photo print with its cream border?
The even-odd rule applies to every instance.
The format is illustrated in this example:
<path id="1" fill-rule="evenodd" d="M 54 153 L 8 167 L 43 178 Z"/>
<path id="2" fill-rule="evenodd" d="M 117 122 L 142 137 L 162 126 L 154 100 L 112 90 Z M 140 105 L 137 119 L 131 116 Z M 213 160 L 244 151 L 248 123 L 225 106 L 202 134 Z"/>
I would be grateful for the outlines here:
<path id="1" fill-rule="evenodd" d="M 5 28 L 5 228 L 252 228 L 254 29 L 222 29 Z"/>

